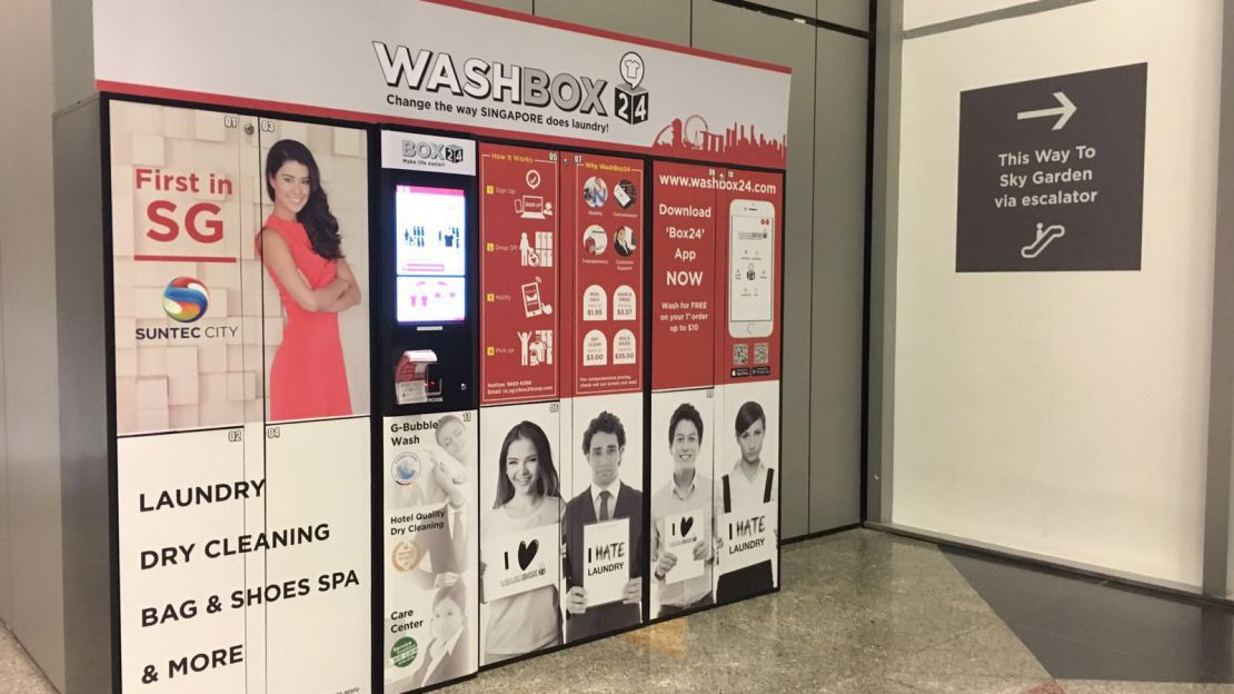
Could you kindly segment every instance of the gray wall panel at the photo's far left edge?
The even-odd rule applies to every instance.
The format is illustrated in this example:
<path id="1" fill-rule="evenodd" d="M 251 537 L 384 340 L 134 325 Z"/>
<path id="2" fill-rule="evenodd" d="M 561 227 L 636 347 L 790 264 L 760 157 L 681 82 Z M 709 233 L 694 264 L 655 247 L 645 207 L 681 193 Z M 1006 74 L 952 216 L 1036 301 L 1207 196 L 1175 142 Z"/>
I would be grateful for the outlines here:
<path id="1" fill-rule="evenodd" d="M 89 10 L 89 7 L 88 7 Z M 0 278 L 12 612 L 9 627 L 64 687 L 56 246 L 52 212 L 52 9 L 15 0 L 0 22 L 0 88 L 21 94 L 0 128 Z"/>

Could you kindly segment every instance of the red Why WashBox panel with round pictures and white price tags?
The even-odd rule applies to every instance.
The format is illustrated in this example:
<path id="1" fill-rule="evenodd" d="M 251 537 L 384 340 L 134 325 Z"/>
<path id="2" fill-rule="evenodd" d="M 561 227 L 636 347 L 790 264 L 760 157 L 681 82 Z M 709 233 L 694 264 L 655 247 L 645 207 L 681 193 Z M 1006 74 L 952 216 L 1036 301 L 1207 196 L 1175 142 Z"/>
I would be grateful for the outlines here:
<path id="1" fill-rule="evenodd" d="M 574 395 L 643 388 L 643 164 L 566 154 L 573 200 Z"/>

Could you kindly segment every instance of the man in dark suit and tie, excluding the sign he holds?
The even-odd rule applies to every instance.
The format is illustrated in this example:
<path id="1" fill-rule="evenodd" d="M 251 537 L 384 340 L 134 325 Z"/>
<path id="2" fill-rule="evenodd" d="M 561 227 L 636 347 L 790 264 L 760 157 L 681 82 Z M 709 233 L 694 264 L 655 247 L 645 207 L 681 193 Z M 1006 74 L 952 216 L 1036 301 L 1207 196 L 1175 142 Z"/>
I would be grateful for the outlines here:
<path id="1" fill-rule="evenodd" d="M 582 453 L 591 468 L 591 484 L 565 505 L 561 527 L 565 533 L 565 640 L 580 641 L 642 621 L 643 603 L 643 494 L 621 482 L 621 458 L 626 452 L 626 429 L 616 415 L 596 415 L 582 433 Z M 629 519 L 629 577 L 622 600 L 605 605 L 587 601 L 584 578 L 584 527 L 594 522 Z"/>

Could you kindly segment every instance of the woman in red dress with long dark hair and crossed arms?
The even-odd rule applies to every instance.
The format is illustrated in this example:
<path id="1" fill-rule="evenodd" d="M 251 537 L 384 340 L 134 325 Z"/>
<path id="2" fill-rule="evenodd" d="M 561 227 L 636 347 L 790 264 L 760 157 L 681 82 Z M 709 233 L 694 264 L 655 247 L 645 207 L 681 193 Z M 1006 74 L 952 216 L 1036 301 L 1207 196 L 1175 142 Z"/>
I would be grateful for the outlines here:
<path id="1" fill-rule="evenodd" d="M 350 415 L 338 314 L 359 304 L 360 288 L 312 152 L 295 140 L 275 142 L 265 157 L 265 191 L 274 212 L 258 247 L 286 314 L 270 367 L 270 419 Z"/>

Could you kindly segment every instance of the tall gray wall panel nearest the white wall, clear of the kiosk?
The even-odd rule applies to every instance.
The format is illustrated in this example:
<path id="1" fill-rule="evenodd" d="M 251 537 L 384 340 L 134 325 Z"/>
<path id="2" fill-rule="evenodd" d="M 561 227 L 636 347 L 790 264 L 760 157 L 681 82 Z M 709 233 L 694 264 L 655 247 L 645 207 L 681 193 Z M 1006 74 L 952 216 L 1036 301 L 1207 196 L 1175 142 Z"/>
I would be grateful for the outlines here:
<path id="1" fill-rule="evenodd" d="M 818 30 L 810 530 L 860 521 L 869 42 Z"/>

